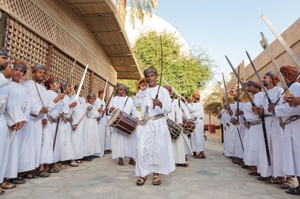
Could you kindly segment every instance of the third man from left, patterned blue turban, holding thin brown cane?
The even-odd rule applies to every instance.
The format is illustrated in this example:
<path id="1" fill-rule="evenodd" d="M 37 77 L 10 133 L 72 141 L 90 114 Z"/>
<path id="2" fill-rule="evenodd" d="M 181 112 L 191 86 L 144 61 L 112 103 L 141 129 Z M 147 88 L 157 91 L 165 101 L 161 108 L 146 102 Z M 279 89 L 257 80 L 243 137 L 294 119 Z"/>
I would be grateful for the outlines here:
<path id="1" fill-rule="evenodd" d="M 49 157 L 50 160 L 48 159 L 46 160 L 47 162 L 41 163 L 42 139 L 43 139 L 43 134 L 45 135 L 47 134 L 46 131 L 48 127 L 46 127 L 46 125 L 49 121 L 46 116 L 48 109 L 47 107 L 43 107 L 40 97 L 38 95 L 39 92 L 42 101 L 44 102 L 44 105 L 47 106 L 49 102 L 47 91 L 46 88 L 43 85 L 41 85 L 41 83 L 45 79 L 46 66 L 36 65 L 31 68 L 31 71 L 35 81 L 29 80 L 27 82 L 24 82 L 22 85 L 26 88 L 26 92 L 28 93 L 29 98 L 31 100 L 31 111 L 30 111 L 31 122 L 30 122 L 29 131 L 34 132 L 34 137 L 35 137 L 35 167 L 39 167 L 38 176 L 47 177 L 50 174 L 45 171 L 44 163 L 47 163 L 48 161 L 49 163 L 52 163 L 51 157 L 53 158 L 53 154 L 48 154 L 47 157 Z M 38 87 L 38 91 L 35 85 Z M 44 158 L 46 157 L 43 157 L 43 159 Z"/>

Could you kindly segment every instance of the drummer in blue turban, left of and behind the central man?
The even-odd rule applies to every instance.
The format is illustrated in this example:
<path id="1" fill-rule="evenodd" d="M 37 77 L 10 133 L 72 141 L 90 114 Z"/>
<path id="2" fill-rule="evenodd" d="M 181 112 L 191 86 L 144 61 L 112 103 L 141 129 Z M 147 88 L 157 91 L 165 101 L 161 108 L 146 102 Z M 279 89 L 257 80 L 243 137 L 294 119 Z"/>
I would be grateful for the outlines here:
<path id="1" fill-rule="evenodd" d="M 118 85 L 118 95 L 111 101 L 109 114 L 112 115 L 113 112 L 119 108 L 121 111 L 139 119 L 137 116 L 137 108 L 133 104 L 133 99 L 126 96 L 126 91 L 127 87 L 125 85 Z M 131 136 L 127 136 L 125 133 L 115 128 L 111 128 L 111 130 L 112 158 L 119 157 L 118 165 L 124 166 L 123 158 L 129 157 L 129 164 L 135 166 L 133 158 L 136 157 L 137 135 L 134 133 Z"/>

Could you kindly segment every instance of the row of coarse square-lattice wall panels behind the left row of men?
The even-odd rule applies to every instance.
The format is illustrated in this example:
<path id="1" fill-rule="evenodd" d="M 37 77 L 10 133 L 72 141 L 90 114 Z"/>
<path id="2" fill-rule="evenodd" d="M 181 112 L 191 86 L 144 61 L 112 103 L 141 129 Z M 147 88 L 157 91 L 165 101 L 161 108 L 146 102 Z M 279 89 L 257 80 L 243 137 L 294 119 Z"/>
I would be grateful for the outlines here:
<path id="1" fill-rule="evenodd" d="M 15 48 L 16 47 L 16 48 Z M 8 17 L 7 30 L 5 39 L 5 48 L 7 49 L 8 59 L 10 62 L 21 60 L 26 62 L 28 67 L 37 64 L 46 65 L 49 44 L 41 37 L 24 27 L 22 24 L 17 23 L 16 20 Z M 67 80 L 73 65 L 74 59 L 67 56 L 64 52 L 56 47 L 52 50 L 51 71 L 50 76 L 57 76 L 63 82 Z M 72 87 L 80 83 L 85 66 L 76 62 L 70 82 Z M 88 95 L 90 85 L 91 71 L 88 70 L 84 79 L 84 97 Z M 30 80 L 31 75 L 27 73 L 21 80 L 25 82 Z M 98 96 L 99 89 L 104 89 L 105 80 L 100 76 L 94 74 L 93 92 Z M 73 89 L 72 94 L 75 91 Z M 108 97 L 110 96 L 109 86 L 107 88 Z"/>

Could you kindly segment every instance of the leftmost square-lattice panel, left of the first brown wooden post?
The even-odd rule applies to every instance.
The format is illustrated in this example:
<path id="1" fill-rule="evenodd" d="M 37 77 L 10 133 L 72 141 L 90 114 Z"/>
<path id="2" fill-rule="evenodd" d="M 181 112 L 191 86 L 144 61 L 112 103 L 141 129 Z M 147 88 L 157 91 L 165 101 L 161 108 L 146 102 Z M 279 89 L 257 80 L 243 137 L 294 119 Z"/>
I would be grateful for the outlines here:
<path id="1" fill-rule="evenodd" d="M 7 19 L 5 48 L 10 62 L 21 60 L 27 67 L 46 65 L 48 43 L 10 17 Z M 30 79 L 31 75 L 27 73 L 21 83 Z"/>

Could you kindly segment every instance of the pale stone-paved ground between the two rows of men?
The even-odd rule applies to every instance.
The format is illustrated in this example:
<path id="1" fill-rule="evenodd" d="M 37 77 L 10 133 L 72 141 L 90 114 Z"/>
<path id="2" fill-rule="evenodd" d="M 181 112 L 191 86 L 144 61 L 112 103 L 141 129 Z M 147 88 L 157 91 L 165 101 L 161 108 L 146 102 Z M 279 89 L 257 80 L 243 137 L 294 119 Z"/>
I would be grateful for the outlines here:
<path id="1" fill-rule="evenodd" d="M 256 180 L 222 153 L 220 137 L 207 134 L 206 159 L 188 157 L 189 166 L 176 166 L 170 175 L 161 175 L 159 186 L 152 185 L 152 174 L 145 185 L 137 186 L 129 158 L 125 166 L 118 166 L 106 154 L 49 177 L 27 180 L 0 198 L 299 198 L 279 185 Z"/>

